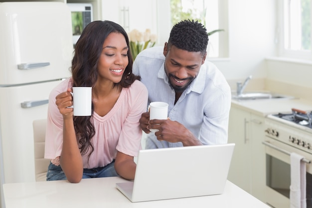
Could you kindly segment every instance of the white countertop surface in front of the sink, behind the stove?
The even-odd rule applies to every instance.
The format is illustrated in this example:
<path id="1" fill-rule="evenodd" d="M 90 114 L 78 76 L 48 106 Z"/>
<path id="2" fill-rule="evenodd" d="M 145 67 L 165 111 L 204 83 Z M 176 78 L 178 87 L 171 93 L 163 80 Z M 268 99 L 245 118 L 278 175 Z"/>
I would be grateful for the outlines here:
<path id="1" fill-rule="evenodd" d="M 273 113 L 290 113 L 292 108 L 305 111 L 312 111 L 312 101 L 293 98 L 293 99 L 263 99 L 263 100 L 234 100 L 232 106 L 248 110 L 251 113 L 266 116 Z"/>

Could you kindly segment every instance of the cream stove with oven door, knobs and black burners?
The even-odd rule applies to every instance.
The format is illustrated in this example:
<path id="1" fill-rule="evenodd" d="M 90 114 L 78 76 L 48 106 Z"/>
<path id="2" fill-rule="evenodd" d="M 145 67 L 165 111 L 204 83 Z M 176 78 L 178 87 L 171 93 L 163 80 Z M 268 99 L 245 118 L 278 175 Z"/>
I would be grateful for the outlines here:
<path id="1" fill-rule="evenodd" d="M 295 117 L 294 112 L 288 115 Z M 274 208 L 290 208 L 290 154 L 293 152 L 304 157 L 307 208 L 312 208 L 312 128 L 310 121 L 310 126 L 302 123 L 305 125 L 277 115 L 269 115 L 265 119 L 266 200 Z"/>

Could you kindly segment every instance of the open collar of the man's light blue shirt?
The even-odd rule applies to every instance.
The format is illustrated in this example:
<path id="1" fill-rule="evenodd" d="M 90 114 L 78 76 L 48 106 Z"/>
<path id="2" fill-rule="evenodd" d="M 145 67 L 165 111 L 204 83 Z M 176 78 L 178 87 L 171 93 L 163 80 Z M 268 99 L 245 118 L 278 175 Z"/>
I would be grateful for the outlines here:
<path id="1" fill-rule="evenodd" d="M 206 81 L 206 68 L 203 67 L 203 65 L 200 67 L 199 73 L 197 77 L 192 81 L 190 86 L 185 90 L 185 93 L 189 93 L 190 91 L 197 92 L 201 94 L 204 91 L 205 88 L 205 81 Z M 164 62 L 161 64 L 157 77 L 160 79 L 163 79 L 165 83 L 169 84 L 168 76 L 166 75 L 164 71 Z"/>

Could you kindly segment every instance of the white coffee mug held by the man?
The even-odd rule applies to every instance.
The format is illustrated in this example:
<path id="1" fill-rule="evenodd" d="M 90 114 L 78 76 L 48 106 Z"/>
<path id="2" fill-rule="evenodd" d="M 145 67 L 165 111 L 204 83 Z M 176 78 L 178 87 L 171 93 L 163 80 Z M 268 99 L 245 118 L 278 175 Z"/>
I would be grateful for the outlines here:
<path id="1" fill-rule="evenodd" d="M 152 102 L 150 104 L 150 120 L 168 118 L 168 103 L 165 102 Z M 151 132 L 157 132 L 158 129 L 150 129 Z"/>

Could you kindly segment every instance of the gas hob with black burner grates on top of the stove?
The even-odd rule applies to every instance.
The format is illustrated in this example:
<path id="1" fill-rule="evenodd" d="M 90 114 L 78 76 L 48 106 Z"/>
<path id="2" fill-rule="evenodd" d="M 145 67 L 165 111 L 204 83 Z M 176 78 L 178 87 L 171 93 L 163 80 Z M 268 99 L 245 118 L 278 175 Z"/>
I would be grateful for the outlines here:
<path id="1" fill-rule="evenodd" d="M 273 116 L 279 117 L 281 119 L 294 122 L 301 126 L 306 126 L 312 129 L 312 113 L 311 111 L 302 111 L 298 109 L 292 109 L 293 113 L 278 113 L 273 114 Z"/>

